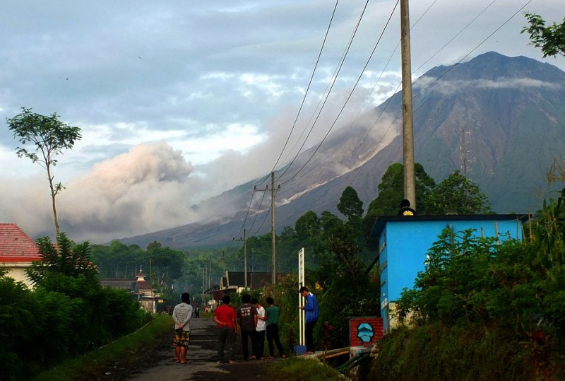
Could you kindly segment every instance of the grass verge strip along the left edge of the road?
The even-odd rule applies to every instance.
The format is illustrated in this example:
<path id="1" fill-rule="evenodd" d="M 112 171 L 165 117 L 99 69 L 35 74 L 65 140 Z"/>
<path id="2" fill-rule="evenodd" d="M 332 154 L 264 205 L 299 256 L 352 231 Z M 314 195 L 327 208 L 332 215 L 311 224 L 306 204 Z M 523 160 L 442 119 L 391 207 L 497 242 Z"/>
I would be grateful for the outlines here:
<path id="1" fill-rule="evenodd" d="M 108 368 L 115 363 L 127 365 L 135 363 L 140 348 L 151 348 L 157 345 L 155 338 L 162 336 L 172 327 L 169 315 L 155 315 L 155 319 L 142 329 L 112 343 L 86 353 L 85 356 L 72 358 L 55 368 L 47 370 L 35 377 L 35 381 L 71 381 L 96 380 L 104 376 Z"/>

